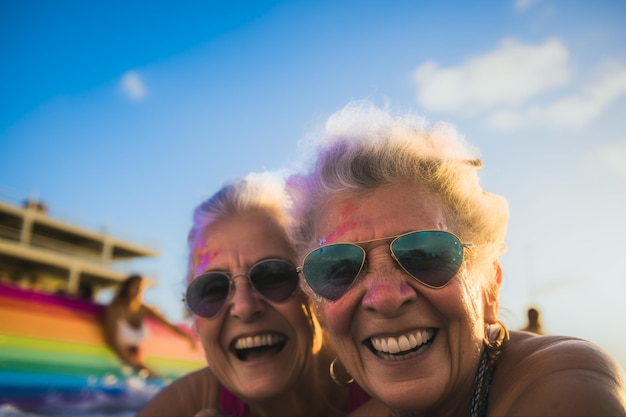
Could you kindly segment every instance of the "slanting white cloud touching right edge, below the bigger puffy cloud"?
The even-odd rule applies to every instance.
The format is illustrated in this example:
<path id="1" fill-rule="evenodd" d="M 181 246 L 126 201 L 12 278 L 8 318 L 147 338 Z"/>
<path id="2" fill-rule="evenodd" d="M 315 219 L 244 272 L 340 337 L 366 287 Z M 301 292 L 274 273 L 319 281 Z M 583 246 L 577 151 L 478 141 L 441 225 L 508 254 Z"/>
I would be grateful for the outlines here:
<path id="1" fill-rule="evenodd" d="M 626 68 L 607 63 L 599 78 L 579 91 L 545 105 L 494 111 L 487 117 L 487 126 L 497 130 L 513 130 L 524 125 L 579 128 L 597 118 L 624 94 Z"/>

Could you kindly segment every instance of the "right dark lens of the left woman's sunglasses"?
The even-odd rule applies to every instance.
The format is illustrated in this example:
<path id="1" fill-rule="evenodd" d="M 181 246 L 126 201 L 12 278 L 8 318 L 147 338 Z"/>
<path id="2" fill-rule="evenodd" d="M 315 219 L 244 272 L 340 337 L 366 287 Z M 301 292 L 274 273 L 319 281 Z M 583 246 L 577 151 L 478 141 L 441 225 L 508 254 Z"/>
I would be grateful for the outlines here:
<path id="1" fill-rule="evenodd" d="M 298 272 L 284 261 L 264 261 L 252 267 L 250 282 L 267 299 L 281 302 L 291 297 L 298 288 Z"/>

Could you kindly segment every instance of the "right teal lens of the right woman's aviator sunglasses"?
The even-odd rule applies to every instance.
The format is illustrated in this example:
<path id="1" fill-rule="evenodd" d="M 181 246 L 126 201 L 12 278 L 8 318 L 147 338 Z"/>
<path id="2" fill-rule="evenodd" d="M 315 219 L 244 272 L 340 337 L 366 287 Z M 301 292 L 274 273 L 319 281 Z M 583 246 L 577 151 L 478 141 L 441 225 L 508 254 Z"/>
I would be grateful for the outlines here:
<path id="1" fill-rule="evenodd" d="M 391 243 L 391 250 L 406 272 L 435 288 L 450 282 L 463 262 L 463 245 L 456 236 L 444 231 L 400 236 Z"/>

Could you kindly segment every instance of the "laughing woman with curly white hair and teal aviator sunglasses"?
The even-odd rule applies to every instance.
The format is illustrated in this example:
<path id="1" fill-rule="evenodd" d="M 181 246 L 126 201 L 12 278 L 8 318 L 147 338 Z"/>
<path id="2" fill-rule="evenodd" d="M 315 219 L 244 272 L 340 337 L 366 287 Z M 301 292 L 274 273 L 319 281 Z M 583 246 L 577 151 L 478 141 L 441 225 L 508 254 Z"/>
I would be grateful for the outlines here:
<path id="1" fill-rule="evenodd" d="M 358 102 L 311 138 L 287 180 L 291 235 L 322 327 L 373 397 L 354 415 L 626 415 L 624 370 L 600 347 L 499 320 L 508 206 L 452 126 Z"/>

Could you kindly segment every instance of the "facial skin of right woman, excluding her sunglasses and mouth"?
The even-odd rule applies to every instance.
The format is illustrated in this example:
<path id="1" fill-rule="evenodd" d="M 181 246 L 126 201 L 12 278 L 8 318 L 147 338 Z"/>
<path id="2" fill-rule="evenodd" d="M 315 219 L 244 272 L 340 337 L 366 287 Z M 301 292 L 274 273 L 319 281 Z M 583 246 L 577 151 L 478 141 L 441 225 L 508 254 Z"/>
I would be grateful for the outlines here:
<path id="1" fill-rule="evenodd" d="M 335 197 L 317 217 L 315 236 L 328 244 L 425 229 L 455 232 L 438 199 L 415 186 L 399 184 L 365 195 Z M 364 245 L 365 270 L 338 301 L 316 303 L 320 321 L 355 380 L 397 414 L 421 409 L 464 415 L 478 365 L 484 315 L 495 316 L 494 303 L 487 301 L 478 280 L 461 271 L 442 289 L 421 285 L 395 263 L 389 243 Z M 411 359 L 381 359 L 367 346 L 372 337 L 399 337 L 420 330 L 434 336 Z"/>

